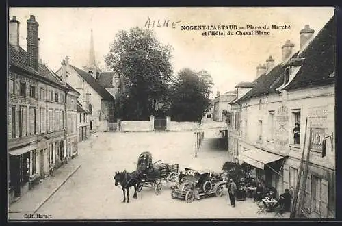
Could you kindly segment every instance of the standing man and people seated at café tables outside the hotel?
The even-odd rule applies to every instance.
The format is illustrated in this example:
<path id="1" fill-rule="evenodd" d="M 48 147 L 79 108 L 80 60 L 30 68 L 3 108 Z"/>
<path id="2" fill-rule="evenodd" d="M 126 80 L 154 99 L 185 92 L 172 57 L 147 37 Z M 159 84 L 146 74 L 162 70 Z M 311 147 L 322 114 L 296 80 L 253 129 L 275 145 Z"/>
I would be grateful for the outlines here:
<path id="1" fill-rule="evenodd" d="M 264 190 L 264 187 L 261 185 L 261 182 L 257 184 L 255 179 L 252 179 L 252 181 L 250 181 L 250 183 L 248 183 L 246 186 L 250 186 L 250 187 L 257 186 L 257 190 L 255 190 L 255 194 L 254 194 L 254 201 L 261 201 L 262 199 L 269 199 L 269 200 L 276 199 L 276 188 L 274 187 L 267 188 Z M 229 196 L 229 200 L 231 201 L 231 206 L 235 207 L 235 196 L 237 193 L 237 185 L 235 184 L 233 179 L 229 179 L 229 181 L 226 184 L 226 188 L 228 188 L 228 196 Z M 266 204 L 264 203 L 264 205 Z M 277 208 L 280 205 L 285 209 L 285 211 L 290 210 L 291 194 L 289 192 L 289 189 L 285 189 L 285 192 L 280 194 L 279 199 L 277 200 L 277 203 L 272 208 L 273 209 Z"/>

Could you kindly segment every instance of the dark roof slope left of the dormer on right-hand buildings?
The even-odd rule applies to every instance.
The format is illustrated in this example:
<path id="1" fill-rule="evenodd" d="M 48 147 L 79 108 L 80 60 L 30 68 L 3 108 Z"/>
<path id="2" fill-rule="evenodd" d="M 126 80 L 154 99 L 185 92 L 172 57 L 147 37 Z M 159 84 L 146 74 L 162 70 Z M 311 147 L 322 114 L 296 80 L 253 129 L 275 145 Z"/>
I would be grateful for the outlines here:
<path id="1" fill-rule="evenodd" d="M 276 88 L 281 86 L 284 81 L 282 73 L 283 66 L 282 64 L 278 64 L 277 66 L 272 68 L 269 73 L 260 75 L 260 77 L 258 77 L 254 81 L 254 88 L 252 88 L 246 93 L 246 95 L 237 100 L 237 102 L 244 101 L 252 97 L 259 97 L 261 95 L 276 91 Z"/>

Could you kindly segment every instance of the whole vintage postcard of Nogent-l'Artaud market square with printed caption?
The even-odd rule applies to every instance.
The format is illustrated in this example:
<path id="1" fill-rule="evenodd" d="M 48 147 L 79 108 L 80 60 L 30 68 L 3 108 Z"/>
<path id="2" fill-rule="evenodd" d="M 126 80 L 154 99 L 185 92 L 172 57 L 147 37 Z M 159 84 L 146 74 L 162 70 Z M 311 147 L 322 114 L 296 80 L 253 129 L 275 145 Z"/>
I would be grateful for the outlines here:
<path id="1" fill-rule="evenodd" d="M 335 218 L 332 7 L 9 8 L 8 220 Z"/>

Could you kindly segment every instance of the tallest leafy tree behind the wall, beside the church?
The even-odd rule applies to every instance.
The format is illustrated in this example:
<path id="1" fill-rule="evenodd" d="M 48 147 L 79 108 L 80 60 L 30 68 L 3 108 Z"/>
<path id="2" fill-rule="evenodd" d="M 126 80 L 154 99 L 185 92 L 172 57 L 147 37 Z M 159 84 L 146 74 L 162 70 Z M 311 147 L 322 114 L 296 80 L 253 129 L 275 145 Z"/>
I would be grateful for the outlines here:
<path id="1" fill-rule="evenodd" d="M 134 27 L 116 34 L 105 63 L 123 83 L 117 105 L 120 118 L 146 120 L 155 114 L 172 75 L 171 51 L 150 29 Z"/>

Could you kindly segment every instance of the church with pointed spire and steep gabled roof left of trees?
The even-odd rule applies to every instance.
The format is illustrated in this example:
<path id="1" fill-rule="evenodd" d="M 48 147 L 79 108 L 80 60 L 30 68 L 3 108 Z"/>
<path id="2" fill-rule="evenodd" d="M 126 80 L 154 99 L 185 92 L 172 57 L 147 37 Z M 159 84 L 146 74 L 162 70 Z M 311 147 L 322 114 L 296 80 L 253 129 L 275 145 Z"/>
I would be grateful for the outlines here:
<path id="1" fill-rule="evenodd" d="M 120 92 L 120 77 L 112 72 L 102 72 L 95 61 L 94 40 L 91 34 L 88 65 L 83 69 L 68 64 L 57 70 L 65 73 L 66 81 L 81 95 L 79 102 L 90 112 L 90 130 L 107 131 L 107 123 L 114 123 L 115 97 Z"/>

